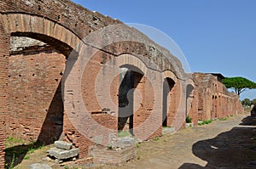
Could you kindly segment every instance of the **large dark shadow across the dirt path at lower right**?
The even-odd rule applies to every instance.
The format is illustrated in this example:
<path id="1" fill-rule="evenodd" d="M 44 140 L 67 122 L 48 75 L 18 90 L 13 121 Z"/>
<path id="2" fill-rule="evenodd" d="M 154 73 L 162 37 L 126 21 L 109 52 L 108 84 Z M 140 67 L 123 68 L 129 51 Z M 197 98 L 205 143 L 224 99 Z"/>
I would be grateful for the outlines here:
<path id="1" fill-rule="evenodd" d="M 246 117 L 241 127 L 234 127 L 229 132 L 222 132 L 216 138 L 195 143 L 193 154 L 207 166 L 184 163 L 180 169 L 188 168 L 256 168 L 256 127 L 253 117 Z"/>

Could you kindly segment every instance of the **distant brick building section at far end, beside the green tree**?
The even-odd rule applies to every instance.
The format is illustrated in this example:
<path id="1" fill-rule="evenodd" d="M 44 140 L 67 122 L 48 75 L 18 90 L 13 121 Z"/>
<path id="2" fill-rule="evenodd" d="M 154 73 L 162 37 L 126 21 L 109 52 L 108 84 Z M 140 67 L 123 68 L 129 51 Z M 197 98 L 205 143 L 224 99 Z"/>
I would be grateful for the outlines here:
<path id="1" fill-rule="evenodd" d="M 193 75 L 199 82 L 198 87 L 198 119 L 209 120 L 223 118 L 228 115 L 240 113 L 241 103 L 239 97 L 230 93 L 217 76 L 212 74 L 195 73 Z"/>

